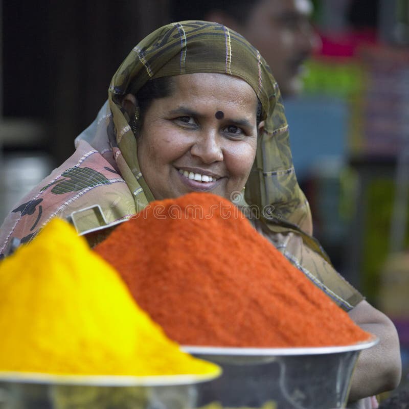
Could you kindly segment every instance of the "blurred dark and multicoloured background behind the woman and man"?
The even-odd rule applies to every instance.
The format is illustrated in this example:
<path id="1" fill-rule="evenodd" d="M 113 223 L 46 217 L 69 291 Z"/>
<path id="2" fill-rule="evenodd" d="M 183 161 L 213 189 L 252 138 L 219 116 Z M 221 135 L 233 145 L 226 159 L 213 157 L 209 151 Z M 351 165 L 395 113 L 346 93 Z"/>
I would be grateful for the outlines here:
<path id="1" fill-rule="evenodd" d="M 294 166 L 315 236 L 409 350 L 409 0 L 313 4 L 322 47 L 284 99 Z M 0 0 L 1 221 L 74 152 L 119 64 L 170 15 L 168 0 Z"/>

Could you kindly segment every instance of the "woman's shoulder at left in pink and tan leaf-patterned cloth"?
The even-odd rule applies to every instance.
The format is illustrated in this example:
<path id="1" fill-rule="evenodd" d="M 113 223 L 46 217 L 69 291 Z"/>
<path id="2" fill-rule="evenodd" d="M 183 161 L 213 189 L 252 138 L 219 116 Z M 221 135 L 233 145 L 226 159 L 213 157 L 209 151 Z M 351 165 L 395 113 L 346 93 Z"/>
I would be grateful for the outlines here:
<path id="1" fill-rule="evenodd" d="M 0 228 L 0 257 L 31 241 L 53 217 L 77 219 L 83 233 L 134 213 L 125 180 L 97 150 L 81 141 L 76 151 L 10 211 Z"/>

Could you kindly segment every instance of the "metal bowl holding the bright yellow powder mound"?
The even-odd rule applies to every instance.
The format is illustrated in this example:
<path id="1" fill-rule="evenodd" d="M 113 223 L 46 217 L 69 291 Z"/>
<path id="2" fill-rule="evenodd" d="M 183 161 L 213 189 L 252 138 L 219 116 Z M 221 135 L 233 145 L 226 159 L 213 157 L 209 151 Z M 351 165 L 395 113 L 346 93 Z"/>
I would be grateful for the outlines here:
<path id="1" fill-rule="evenodd" d="M 191 409 L 197 384 L 215 376 L 0 373 L 0 409 Z"/>

